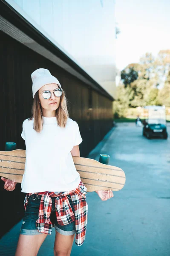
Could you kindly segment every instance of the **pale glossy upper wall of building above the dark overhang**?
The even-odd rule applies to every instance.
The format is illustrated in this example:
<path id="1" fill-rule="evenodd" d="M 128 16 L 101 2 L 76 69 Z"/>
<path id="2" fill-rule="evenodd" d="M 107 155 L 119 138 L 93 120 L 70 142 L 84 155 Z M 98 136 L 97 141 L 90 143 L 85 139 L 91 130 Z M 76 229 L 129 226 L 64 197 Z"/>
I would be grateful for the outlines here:
<path id="1" fill-rule="evenodd" d="M 115 96 L 115 0 L 6 0 Z"/>

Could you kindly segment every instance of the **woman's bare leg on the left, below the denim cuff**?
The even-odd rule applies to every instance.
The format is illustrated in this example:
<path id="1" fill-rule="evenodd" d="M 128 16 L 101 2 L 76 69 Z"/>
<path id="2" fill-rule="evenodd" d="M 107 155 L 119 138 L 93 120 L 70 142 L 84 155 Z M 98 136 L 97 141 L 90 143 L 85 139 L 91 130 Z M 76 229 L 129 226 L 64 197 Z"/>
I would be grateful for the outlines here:
<path id="1" fill-rule="evenodd" d="M 20 234 L 15 256 L 36 256 L 46 236 L 43 233 L 34 236 Z"/>

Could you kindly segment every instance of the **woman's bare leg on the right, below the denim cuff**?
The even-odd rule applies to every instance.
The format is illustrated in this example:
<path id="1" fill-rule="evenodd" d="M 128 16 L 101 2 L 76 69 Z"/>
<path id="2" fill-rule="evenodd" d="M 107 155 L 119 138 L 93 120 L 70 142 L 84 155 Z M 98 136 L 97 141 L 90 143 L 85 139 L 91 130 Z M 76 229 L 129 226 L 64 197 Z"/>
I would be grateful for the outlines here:
<path id="1" fill-rule="evenodd" d="M 54 255 L 55 256 L 70 256 L 72 250 L 72 244 L 75 238 L 75 234 L 65 236 L 55 230 L 55 244 Z"/>

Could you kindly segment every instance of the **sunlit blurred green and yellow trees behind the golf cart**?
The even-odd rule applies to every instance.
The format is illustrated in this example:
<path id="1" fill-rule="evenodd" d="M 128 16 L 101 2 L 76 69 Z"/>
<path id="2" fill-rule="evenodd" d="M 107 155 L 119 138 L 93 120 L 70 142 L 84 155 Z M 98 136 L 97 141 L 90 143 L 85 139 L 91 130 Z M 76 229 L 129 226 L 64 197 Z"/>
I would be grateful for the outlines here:
<path id="1" fill-rule="evenodd" d="M 131 63 L 121 71 L 121 81 L 115 102 L 117 116 L 125 116 L 129 107 L 170 107 L 170 50 L 161 50 L 157 58 L 147 52 L 139 63 Z"/>

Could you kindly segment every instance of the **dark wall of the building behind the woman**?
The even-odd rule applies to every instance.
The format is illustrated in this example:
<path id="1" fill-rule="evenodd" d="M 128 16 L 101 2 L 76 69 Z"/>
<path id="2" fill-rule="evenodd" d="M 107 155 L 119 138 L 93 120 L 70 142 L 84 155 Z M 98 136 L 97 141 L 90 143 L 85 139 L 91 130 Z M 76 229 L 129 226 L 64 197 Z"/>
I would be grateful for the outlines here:
<path id="1" fill-rule="evenodd" d="M 112 127 L 112 101 L 3 32 L 0 32 L 0 151 L 5 150 L 7 141 L 17 143 L 16 149 L 25 149 L 20 134 L 23 121 L 31 116 L 31 73 L 40 67 L 49 69 L 65 90 L 70 118 L 78 122 L 81 131 L 80 151 L 85 157 Z M 6 228 L 1 229 L 2 234 L 22 218 L 25 195 L 20 192 L 20 184 L 13 192 L 3 189 L 3 184 L 0 180 L 0 199 L 6 223 Z"/>

